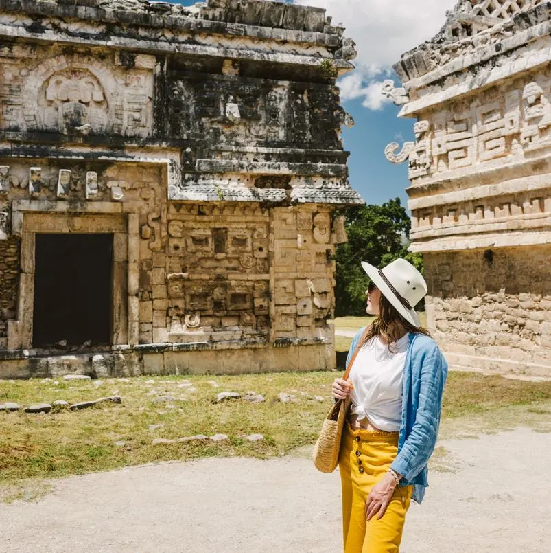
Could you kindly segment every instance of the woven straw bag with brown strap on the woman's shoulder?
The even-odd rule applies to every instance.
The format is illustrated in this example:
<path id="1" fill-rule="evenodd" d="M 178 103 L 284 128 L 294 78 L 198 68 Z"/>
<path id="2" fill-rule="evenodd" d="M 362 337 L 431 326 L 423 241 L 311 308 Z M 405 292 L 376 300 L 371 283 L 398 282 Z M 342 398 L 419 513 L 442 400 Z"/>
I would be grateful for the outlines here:
<path id="1" fill-rule="evenodd" d="M 346 372 L 344 372 L 344 376 L 342 376 L 344 380 L 346 380 L 350 374 L 352 364 L 362 348 L 367 332 L 368 328 L 364 330 L 362 338 L 357 342 L 352 359 L 348 364 Z M 345 400 L 338 400 L 331 409 L 329 409 L 329 413 L 323 421 L 320 437 L 316 442 L 316 447 L 314 447 L 313 455 L 314 465 L 316 469 L 322 473 L 332 473 L 337 468 L 342 429 L 344 428 L 344 421 L 347 420 L 350 405 L 350 396 Z"/>

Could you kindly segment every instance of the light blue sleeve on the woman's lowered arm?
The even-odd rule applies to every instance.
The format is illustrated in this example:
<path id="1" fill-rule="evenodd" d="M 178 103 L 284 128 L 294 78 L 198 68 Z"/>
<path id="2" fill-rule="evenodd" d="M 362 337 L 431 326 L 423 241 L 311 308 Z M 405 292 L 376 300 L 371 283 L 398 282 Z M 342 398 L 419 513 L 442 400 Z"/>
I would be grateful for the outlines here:
<path id="1" fill-rule="evenodd" d="M 436 446 L 447 376 L 447 364 L 438 347 L 426 354 L 422 363 L 415 422 L 391 465 L 392 470 L 408 481 L 421 472 Z"/>

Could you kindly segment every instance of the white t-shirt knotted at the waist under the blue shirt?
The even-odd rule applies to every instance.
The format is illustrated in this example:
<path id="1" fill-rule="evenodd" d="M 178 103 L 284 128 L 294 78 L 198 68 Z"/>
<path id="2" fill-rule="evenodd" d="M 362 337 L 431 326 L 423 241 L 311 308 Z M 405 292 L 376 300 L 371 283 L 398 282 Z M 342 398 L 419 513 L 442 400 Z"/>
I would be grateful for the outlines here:
<path id="1" fill-rule="evenodd" d="M 350 372 L 351 410 L 358 420 L 368 418 L 385 432 L 400 429 L 403 365 L 410 345 L 409 333 L 388 345 L 375 336 L 364 343 Z"/>

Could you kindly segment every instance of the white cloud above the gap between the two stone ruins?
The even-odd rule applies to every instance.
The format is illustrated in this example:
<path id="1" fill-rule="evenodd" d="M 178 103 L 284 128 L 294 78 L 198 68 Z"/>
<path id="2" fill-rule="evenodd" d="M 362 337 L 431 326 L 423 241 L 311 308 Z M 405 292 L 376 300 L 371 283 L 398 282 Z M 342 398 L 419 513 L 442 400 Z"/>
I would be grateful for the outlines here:
<path id="1" fill-rule="evenodd" d="M 458 0 L 295 0 L 325 8 L 332 24 L 342 23 L 345 36 L 356 43 L 357 67 L 340 80 L 342 100 L 364 98 L 368 109 L 387 101 L 382 80 L 401 54 L 430 40 L 445 23 L 445 14 Z M 379 99 L 377 96 L 380 95 Z"/>

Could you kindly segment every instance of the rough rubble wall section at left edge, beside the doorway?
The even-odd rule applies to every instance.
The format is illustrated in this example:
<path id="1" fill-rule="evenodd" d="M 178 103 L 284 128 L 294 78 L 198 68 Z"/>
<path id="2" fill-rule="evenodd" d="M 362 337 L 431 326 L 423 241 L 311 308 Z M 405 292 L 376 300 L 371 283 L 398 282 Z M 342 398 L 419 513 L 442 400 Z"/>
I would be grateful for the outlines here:
<path id="1" fill-rule="evenodd" d="M 15 314 L 18 275 L 19 240 L 0 240 L 0 348 L 7 344 L 7 321 Z"/>

